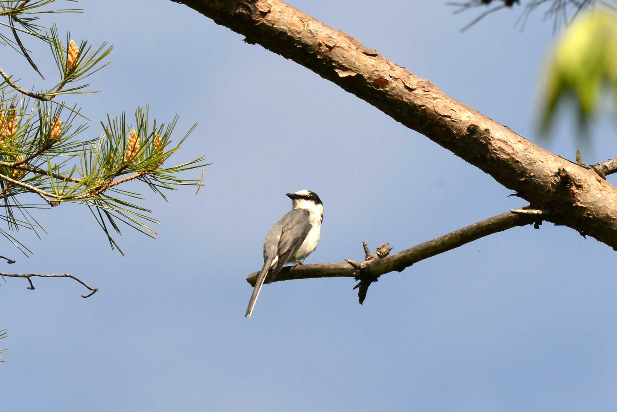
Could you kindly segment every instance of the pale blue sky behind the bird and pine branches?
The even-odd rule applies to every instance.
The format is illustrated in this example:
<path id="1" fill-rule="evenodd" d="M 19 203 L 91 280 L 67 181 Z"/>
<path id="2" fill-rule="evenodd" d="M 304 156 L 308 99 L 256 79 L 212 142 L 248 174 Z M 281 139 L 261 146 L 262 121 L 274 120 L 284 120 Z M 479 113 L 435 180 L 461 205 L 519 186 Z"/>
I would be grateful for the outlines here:
<path id="1" fill-rule="evenodd" d="M 300 10 L 428 78 L 453 98 L 574 159 L 573 111 L 552 140 L 537 137 L 544 57 L 554 38 L 542 11 L 521 8 L 459 33 L 476 12 L 443 2 L 298 0 Z M 72 6 L 72 4 L 69 4 Z M 205 186 L 146 187 L 156 240 L 125 228 L 111 251 L 86 208 L 36 217 L 48 235 L 18 233 L 35 252 L 3 271 L 68 272 L 0 287 L 0 364 L 7 411 L 613 411 L 617 405 L 615 252 L 545 223 L 482 238 L 381 277 L 364 305 L 351 279 L 278 282 L 244 319 L 284 193 L 313 190 L 325 205 L 320 245 L 306 263 L 393 252 L 524 202 L 491 177 L 355 96 L 168 0 L 81 2 L 45 16 L 76 40 L 114 44 L 114 62 L 80 99 L 98 120 L 150 104 L 178 113 L 176 138 L 199 125 L 171 161 L 205 154 Z M 32 44 L 49 82 L 48 49 Z M 1 49 L 2 69 L 43 85 Z M 52 80 L 53 79 L 53 80 Z M 73 101 L 73 100 L 72 100 Z M 583 161 L 617 156 L 602 114 Z M 186 177 L 201 177 L 199 172 Z M 609 180 L 614 179 L 609 178 Z"/>

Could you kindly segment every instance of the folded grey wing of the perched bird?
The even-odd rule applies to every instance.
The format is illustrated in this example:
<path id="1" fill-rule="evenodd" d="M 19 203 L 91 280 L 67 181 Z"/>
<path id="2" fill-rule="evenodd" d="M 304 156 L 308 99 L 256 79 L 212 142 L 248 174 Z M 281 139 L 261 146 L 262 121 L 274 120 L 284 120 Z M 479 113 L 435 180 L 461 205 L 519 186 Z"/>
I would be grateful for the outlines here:
<path id="1" fill-rule="evenodd" d="M 279 230 L 275 233 L 270 231 L 263 244 L 263 258 L 268 254 L 275 253 L 278 256 L 276 265 L 272 268 L 268 284 L 275 280 L 278 272 L 288 263 L 289 258 L 296 253 L 309 234 L 312 227 L 309 221 L 309 211 L 306 209 L 293 209 L 275 225 Z M 278 242 L 276 242 L 278 238 Z M 276 245 L 276 251 L 273 247 Z M 266 250 L 268 248 L 268 250 Z"/>

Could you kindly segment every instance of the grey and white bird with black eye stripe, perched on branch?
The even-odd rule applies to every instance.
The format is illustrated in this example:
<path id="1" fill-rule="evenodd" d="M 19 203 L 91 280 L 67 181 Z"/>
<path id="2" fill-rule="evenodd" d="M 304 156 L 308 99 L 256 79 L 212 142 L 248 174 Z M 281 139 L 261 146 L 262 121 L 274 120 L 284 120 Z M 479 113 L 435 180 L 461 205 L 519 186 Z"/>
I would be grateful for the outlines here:
<path id="1" fill-rule="evenodd" d="M 255 282 L 245 317 L 253 313 L 257 296 L 268 273 L 269 284 L 275 280 L 285 264 L 301 264 L 319 243 L 323 221 L 323 203 L 319 196 L 309 190 L 287 193 L 287 196 L 291 198 L 291 211 L 275 223 L 263 241 L 263 267 Z"/>

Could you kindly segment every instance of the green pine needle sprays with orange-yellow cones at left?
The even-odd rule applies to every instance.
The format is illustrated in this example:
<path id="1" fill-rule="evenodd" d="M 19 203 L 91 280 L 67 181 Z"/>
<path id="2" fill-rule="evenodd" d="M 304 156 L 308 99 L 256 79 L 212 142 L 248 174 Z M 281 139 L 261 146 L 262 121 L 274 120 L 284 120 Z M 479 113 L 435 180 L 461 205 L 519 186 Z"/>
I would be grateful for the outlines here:
<path id="1" fill-rule="evenodd" d="M 67 1 L 75 2 L 63 2 Z M 91 121 L 79 107 L 60 99 L 97 93 L 83 80 L 110 63 L 112 46 L 93 47 L 86 40 L 75 43 L 70 33 L 63 43 L 55 24 L 49 28 L 38 25 L 39 14 L 81 11 L 48 9 L 56 2 L 0 0 L 0 47 L 14 49 L 43 78 L 22 38 L 44 41 L 58 69 L 54 85 L 30 91 L 0 67 L 0 219 L 6 222 L 0 234 L 28 254 L 30 250 L 12 233 L 22 228 L 37 235 L 44 232 L 32 209 L 77 203 L 90 209 L 112 248 L 122 253 L 112 238 L 122 224 L 151 237 L 156 234 L 151 225 L 159 224 L 143 204 L 143 196 L 126 190 L 126 183 L 145 183 L 165 198 L 166 190 L 201 185 L 200 179 L 178 175 L 207 164 L 202 156 L 170 166 L 170 157 L 195 125 L 180 140 L 172 141 L 178 116 L 167 123 L 150 120 L 147 105 L 138 107 L 130 120 L 125 113 L 107 116 L 100 123 L 98 138 L 80 140 L 79 135 L 92 127 Z"/>

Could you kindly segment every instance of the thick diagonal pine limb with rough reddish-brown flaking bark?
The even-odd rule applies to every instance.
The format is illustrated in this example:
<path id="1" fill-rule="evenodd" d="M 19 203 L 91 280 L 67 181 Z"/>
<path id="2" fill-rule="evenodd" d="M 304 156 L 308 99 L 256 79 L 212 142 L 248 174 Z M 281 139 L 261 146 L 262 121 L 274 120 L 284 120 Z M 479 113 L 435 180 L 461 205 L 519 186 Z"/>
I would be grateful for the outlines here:
<path id="1" fill-rule="evenodd" d="M 175 2 L 180 2 L 172 0 Z M 547 220 L 617 250 L 617 188 L 560 158 L 360 42 L 279 0 L 183 0 L 377 107 L 516 191 Z"/>

